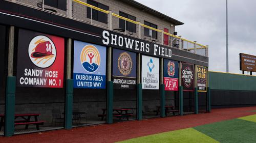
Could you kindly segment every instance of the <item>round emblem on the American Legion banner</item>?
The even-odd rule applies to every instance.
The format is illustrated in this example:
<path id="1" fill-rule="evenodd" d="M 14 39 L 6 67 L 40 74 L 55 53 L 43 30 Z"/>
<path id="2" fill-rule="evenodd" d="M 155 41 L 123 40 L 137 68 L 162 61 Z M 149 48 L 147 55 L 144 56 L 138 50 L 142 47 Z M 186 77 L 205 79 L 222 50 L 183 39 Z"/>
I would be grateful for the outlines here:
<path id="1" fill-rule="evenodd" d="M 120 56 L 118 57 L 119 72 L 124 76 L 129 75 L 132 71 L 132 65 L 133 61 L 131 55 L 127 52 L 120 53 Z"/>

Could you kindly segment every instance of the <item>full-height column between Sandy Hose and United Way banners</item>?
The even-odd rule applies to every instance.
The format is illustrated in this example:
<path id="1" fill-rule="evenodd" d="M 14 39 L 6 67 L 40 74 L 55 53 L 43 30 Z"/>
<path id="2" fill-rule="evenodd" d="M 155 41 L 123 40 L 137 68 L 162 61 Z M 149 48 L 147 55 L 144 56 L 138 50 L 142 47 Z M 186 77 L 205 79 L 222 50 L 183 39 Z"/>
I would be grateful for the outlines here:
<path id="1" fill-rule="evenodd" d="M 65 98 L 65 129 L 72 129 L 73 115 L 73 79 L 71 79 L 71 49 L 72 39 L 67 42 L 67 80 L 66 80 L 66 98 Z"/>

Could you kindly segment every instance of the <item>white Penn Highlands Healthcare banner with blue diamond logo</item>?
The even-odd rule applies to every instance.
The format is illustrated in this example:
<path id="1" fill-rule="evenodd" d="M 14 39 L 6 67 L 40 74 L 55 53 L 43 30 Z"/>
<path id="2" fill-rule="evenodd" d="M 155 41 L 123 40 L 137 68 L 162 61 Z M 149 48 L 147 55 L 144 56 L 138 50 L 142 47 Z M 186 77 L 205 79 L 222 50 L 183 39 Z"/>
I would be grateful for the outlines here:
<path id="1" fill-rule="evenodd" d="M 141 58 L 142 89 L 159 89 L 159 59 L 142 55 Z"/>

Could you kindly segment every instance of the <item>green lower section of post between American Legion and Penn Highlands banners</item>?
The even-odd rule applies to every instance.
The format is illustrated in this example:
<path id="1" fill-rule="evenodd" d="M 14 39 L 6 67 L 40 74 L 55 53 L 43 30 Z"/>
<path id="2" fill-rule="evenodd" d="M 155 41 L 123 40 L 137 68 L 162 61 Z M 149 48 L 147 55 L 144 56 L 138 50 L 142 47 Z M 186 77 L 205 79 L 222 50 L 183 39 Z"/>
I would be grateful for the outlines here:
<path id="1" fill-rule="evenodd" d="M 142 84 L 137 84 L 137 120 L 142 120 Z"/>

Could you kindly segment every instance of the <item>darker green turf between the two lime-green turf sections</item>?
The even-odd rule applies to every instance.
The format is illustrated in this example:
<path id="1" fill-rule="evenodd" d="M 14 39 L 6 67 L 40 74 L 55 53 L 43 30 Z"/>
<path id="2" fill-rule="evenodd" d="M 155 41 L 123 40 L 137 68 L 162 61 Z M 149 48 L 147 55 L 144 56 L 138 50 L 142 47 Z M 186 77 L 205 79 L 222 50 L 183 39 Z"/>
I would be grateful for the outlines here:
<path id="1" fill-rule="evenodd" d="M 222 143 L 256 142 L 256 123 L 245 120 L 233 119 L 194 127 L 194 129 Z"/>

